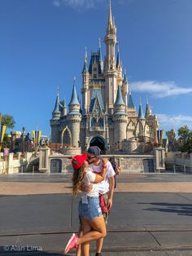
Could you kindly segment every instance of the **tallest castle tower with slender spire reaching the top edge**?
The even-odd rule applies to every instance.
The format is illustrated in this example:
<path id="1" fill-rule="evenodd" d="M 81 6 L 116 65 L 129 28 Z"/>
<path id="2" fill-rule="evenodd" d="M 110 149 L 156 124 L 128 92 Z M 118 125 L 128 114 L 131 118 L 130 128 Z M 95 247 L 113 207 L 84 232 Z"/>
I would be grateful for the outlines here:
<path id="1" fill-rule="evenodd" d="M 118 73 L 116 70 L 116 25 L 114 20 L 112 20 L 111 0 L 109 0 L 109 13 L 105 43 L 107 52 L 104 62 L 104 75 L 106 78 L 106 104 L 107 108 L 109 108 L 108 112 L 111 113 L 111 109 L 113 108 L 116 99 L 116 80 L 118 77 Z"/>

